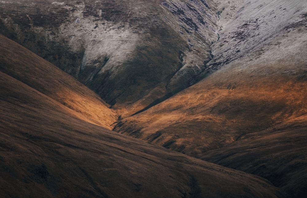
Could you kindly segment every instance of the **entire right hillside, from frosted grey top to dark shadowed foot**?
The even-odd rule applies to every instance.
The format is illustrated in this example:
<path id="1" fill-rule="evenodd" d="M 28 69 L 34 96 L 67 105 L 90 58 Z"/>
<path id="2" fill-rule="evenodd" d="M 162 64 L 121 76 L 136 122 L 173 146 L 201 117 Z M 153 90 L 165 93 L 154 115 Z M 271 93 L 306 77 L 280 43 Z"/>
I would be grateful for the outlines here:
<path id="1" fill-rule="evenodd" d="M 305 195 L 306 5 L 247 2 L 219 32 L 200 82 L 115 130 Z"/>

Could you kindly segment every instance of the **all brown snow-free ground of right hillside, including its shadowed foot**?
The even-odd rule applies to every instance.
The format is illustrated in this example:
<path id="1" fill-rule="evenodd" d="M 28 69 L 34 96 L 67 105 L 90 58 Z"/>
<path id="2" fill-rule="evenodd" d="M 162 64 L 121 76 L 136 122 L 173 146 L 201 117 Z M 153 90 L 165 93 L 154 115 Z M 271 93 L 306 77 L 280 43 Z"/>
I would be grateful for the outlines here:
<path id="1" fill-rule="evenodd" d="M 264 176 L 293 196 L 303 193 L 307 119 L 301 116 L 307 112 L 306 81 L 272 75 L 250 82 L 231 78 L 236 84 L 231 80 L 212 84 L 215 77 L 120 121 L 116 129 L 190 156 Z M 301 117 L 299 122 L 297 117 Z M 270 129 L 281 122 L 284 133 Z M 238 154 L 228 156 L 234 153 Z M 296 162 L 303 165 L 295 166 Z M 256 170 L 259 167 L 262 169 Z"/>

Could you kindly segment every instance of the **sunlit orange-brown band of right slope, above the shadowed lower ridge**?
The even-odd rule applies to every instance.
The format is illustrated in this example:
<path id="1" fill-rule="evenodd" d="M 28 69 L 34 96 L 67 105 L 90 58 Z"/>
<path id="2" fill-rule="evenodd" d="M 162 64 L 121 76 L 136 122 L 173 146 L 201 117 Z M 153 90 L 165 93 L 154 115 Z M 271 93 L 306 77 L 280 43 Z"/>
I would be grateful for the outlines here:
<path id="1" fill-rule="evenodd" d="M 116 130 L 193 156 L 306 113 L 305 81 L 271 76 L 213 84 L 215 77 L 119 121 Z"/>

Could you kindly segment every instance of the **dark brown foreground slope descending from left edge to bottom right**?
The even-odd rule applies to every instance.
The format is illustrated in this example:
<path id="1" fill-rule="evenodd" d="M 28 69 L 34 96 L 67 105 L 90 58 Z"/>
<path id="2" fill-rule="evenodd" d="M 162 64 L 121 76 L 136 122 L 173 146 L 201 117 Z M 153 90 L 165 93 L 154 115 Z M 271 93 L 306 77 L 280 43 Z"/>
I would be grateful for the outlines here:
<path id="1" fill-rule="evenodd" d="M 0 72 L 2 197 L 282 197 L 262 178 L 122 136 Z"/>

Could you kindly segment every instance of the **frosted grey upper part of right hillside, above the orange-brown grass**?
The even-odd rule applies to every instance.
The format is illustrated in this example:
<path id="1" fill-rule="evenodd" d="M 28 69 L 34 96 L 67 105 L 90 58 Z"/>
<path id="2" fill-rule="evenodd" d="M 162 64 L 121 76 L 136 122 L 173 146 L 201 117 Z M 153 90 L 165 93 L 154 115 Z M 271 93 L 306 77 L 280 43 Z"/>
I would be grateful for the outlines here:
<path id="1" fill-rule="evenodd" d="M 306 14 L 304 1 L 245 2 L 219 31 L 219 41 L 212 45 L 214 58 L 207 64 L 208 70 L 240 65 L 238 70 L 252 71 L 270 63 L 270 67 L 257 75 L 304 71 L 306 67 L 297 68 L 291 62 L 306 62 Z M 275 64 L 278 61 L 283 64 Z"/>

